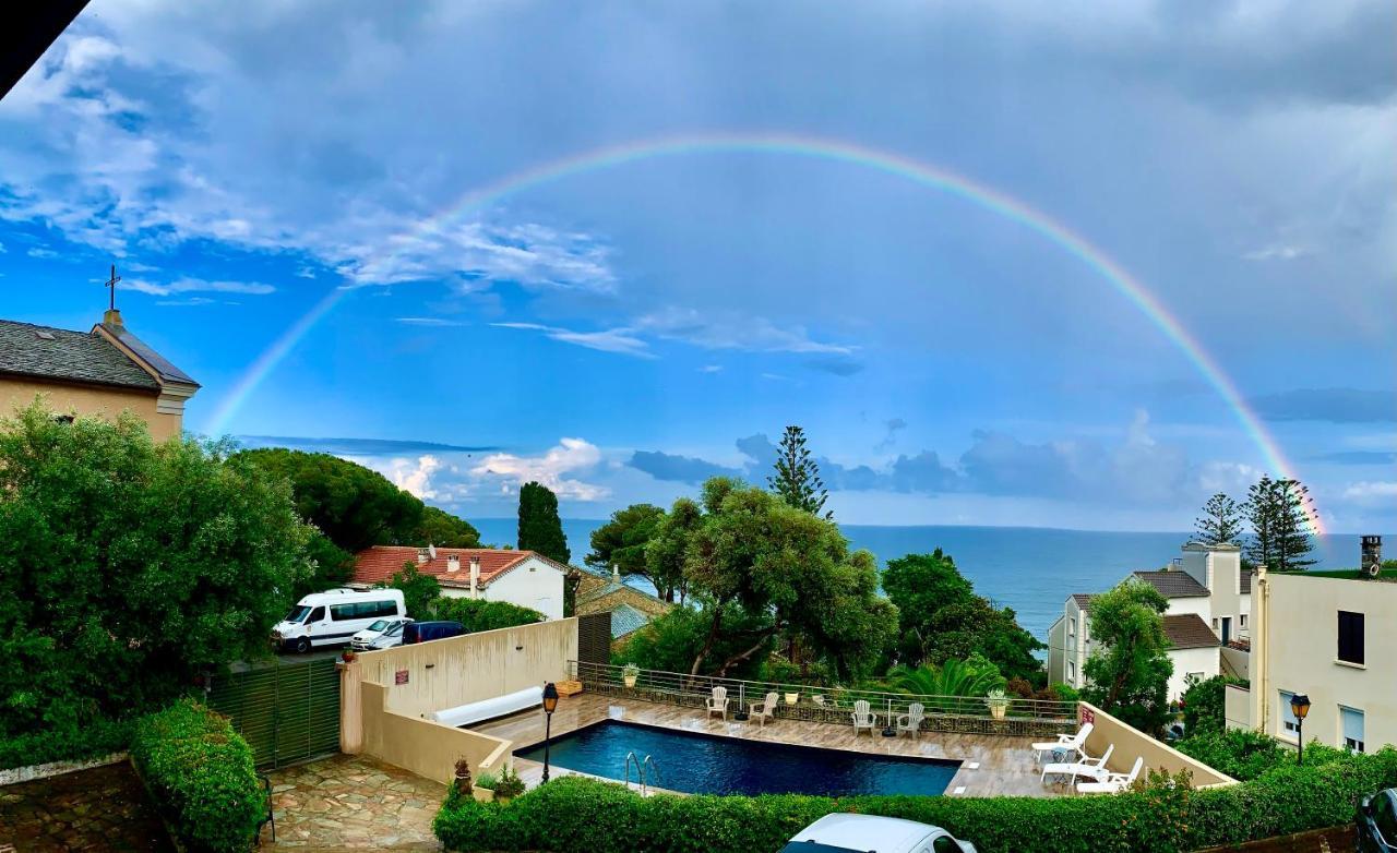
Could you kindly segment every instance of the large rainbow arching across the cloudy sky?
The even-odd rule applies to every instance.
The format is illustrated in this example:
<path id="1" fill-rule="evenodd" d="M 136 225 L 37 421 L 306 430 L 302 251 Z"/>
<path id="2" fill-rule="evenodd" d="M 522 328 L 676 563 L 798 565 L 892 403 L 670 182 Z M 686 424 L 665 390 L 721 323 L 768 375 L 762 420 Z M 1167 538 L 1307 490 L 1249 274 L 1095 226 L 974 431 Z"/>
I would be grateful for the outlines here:
<path id="1" fill-rule="evenodd" d="M 1256 412 L 1248 406 L 1236 384 L 1232 383 L 1217 360 L 1203 349 L 1199 341 L 1183 328 L 1179 320 L 1169 313 L 1164 303 L 1140 279 L 1130 275 L 1101 249 L 1097 249 L 1067 226 L 1055 222 L 1044 212 L 1023 201 L 968 177 L 898 154 L 866 148 L 841 140 L 774 133 L 705 133 L 638 140 L 539 163 L 500 177 L 486 186 L 476 187 L 441 212 L 418 223 L 409 232 L 408 239 L 388 240 L 386 244 L 412 244 L 414 240 L 411 237 L 439 232 L 443 226 L 454 223 L 461 216 L 481 211 L 509 195 L 570 176 L 613 169 L 638 161 L 704 154 L 770 154 L 849 163 L 963 198 L 1045 237 L 1105 279 L 1193 363 L 1199 374 L 1203 376 L 1208 385 L 1232 409 L 1238 423 L 1261 452 L 1273 473 L 1281 477 L 1299 479 L 1294 473 L 1294 466 L 1282 455 L 1275 438 L 1267 431 Z M 380 257 L 391 257 L 391 254 L 388 251 Z M 337 288 L 331 290 L 263 352 L 224 398 L 214 413 L 210 433 L 219 434 L 251 392 L 277 369 L 277 364 L 352 290 L 353 288 Z M 1315 533 L 1323 533 L 1319 514 L 1313 505 L 1305 503 L 1305 511 L 1310 529 Z"/>

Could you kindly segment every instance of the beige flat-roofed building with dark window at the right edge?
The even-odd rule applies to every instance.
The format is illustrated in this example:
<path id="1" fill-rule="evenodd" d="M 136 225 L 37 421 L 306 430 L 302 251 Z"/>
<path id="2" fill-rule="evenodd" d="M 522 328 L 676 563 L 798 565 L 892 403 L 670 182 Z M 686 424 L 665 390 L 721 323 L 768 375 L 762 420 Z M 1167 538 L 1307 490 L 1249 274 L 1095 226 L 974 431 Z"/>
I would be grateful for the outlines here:
<path id="1" fill-rule="evenodd" d="M 1397 578 L 1264 572 L 1250 598 L 1252 683 L 1228 688 L 1228 725 L 1296 743 L 1291 697 L 1305 694 L 1306 741 L 1397 744 Z"/>

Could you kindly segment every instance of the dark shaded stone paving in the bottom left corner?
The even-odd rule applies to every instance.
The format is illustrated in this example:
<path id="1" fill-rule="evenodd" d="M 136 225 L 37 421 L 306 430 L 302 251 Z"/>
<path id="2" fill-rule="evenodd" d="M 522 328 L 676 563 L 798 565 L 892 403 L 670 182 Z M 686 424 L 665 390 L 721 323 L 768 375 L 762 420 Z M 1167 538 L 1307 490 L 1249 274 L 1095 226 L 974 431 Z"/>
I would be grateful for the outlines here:
<path id="1" fill-rule="evenodd" d="M 0 787 L 0 850 L 173 853 L 127 762 Z"/>

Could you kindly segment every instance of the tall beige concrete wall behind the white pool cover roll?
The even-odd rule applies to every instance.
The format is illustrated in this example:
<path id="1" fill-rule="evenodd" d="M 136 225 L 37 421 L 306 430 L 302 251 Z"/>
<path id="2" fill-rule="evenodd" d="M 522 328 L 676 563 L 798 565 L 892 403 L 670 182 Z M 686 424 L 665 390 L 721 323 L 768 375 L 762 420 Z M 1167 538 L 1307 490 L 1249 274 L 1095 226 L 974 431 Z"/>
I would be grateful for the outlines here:
<path id="1" fill-rule="evenodd" d="M 408 716 L 560 680 L 576 659 L 576 618 L 359 655 L 363 680 L 387 687 L 386 708 Z M 407 673 L 407 684 L 395 683 L 400 672 Z"/>

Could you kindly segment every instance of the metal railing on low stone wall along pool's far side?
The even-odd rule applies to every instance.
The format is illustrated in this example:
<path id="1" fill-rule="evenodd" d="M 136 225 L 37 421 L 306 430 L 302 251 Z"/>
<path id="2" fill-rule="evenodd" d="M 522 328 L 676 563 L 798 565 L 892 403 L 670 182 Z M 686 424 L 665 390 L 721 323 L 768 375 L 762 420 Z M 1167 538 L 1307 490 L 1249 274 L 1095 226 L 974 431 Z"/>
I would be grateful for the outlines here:
<path id="1" fill-rule="evenodd" d="M 777 694 L 775 716 L 778 719 L 848 726 L 854 704 L 865 701 L 869 704 L 869 711 L 877 715 L 880 726 L 894 725 L 898 716 L 909 712 L 912 704 L 921 704 L 925 713 L 921 729 L 925 732 L 1041 736 L 1076 730 L 1077 726 L 1077 704 L 1056 699 L 1010 698 L 1003 716 L 995 716 L 983 697 L 916 695 L 845 687 L 826 688 L 809 684 L 689 676 L 661 670 L 640 670 L 634 684 L 627 685 L 623 669 L 605 663 L 569 660 L 569 673 L 581 681 L 585 690 L 604 695 L 703 708 L 712 697 L 712 690 L 724 687 L 728 691 L 729 718 L 746 713 L 752 704 L 761 702 L 767 694 L 774 692 Z"/>

